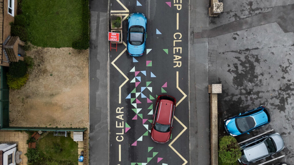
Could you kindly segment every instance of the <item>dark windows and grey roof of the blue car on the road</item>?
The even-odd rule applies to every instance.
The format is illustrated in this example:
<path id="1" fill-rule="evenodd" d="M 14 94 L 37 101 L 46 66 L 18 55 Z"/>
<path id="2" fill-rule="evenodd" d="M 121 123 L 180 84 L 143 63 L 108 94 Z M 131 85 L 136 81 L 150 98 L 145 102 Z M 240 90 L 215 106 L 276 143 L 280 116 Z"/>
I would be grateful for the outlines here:
<path id="1" fill-rule="evenodd" d="M 129 43 L 131 45 L 142 45 L 144 42 L 145 29 L 143 26 L 132 26 L 129 29 Z"/>

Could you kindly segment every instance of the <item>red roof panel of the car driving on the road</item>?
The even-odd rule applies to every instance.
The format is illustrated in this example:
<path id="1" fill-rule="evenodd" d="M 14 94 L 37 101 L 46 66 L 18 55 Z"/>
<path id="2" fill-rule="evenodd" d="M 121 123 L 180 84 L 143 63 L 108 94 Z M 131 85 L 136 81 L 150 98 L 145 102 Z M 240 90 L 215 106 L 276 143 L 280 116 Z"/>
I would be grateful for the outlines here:
<path id="1" fill-rule="evenodd" d="M 172 110 L 172 101 L 160 100 L 156 122 L 160 124 L 171 124 Z"/>

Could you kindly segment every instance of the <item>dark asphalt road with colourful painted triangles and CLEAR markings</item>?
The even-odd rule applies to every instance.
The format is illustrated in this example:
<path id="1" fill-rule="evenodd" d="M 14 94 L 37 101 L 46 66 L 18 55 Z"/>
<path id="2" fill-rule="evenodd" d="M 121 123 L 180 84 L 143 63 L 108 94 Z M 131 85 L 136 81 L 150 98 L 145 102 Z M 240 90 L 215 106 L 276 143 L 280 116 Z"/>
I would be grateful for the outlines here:
<path id="1" fill-rule="evenodd" d="M 178 6 L 180 10 L 165 1 L 120 2 L 110 1 L 111 13 L 145 14 L 148 37 L 141 57 L 129 56 L 124 44 L 109 53 L 109 164 L 189 164 L 188 1 L 181 9 Z M 122 5 L 129 12 L 121 12 Z M 124 42 L 126 29 L 127 20 L 123 21 Z M 152 141 L 148 121 L 156 95 L 161 94 L 177 100 L 172 138 L 166 144 Z"/>

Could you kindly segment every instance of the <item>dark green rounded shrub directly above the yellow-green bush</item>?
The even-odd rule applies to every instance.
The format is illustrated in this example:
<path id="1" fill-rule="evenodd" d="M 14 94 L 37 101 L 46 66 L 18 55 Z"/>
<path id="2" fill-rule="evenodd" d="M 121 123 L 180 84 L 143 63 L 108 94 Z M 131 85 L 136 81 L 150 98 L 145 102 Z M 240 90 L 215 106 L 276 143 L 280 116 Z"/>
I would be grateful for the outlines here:
<path id="1" fill-rule="evenodd" d="M 22 60 L 19 60 L 19 62 L 11 62 L 9 64 L 9 75 L 11 75 L 12 78 L 20 78 L 24 77 L 26 75 L 27 71 L 26 63 Z"/>

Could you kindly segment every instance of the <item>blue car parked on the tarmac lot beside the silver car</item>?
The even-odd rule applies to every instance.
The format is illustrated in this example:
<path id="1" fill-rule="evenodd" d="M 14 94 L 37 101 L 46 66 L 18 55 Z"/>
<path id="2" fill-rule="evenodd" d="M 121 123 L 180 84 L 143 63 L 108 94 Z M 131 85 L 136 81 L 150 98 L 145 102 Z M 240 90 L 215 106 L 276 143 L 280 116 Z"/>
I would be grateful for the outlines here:
<path id="1" fill-rule="evenodd" d="M 225 119 L 225 130 L 231 136 L 238 136 L 254 131 L 268 123 L 270 123 L 270 115 L 265 107 L 260 106 L 243 114 L 240 113 Z"/>

